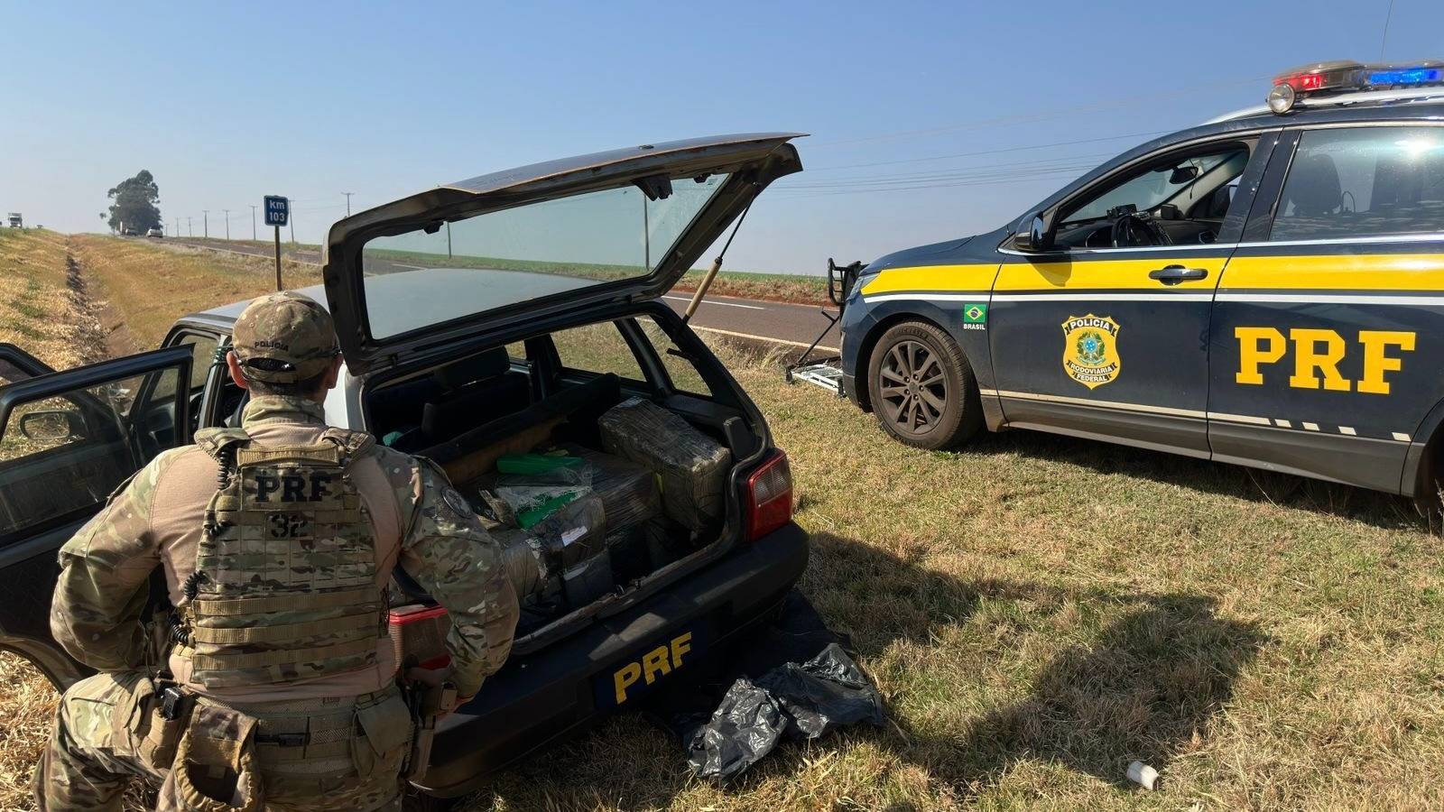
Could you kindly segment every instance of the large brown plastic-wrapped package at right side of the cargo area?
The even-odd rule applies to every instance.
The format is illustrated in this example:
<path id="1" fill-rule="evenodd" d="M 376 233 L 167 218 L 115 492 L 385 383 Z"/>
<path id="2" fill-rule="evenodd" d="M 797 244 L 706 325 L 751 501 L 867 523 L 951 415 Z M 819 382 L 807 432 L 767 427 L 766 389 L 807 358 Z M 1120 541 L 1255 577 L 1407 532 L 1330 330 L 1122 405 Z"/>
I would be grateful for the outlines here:
<path id="1" fill-rule="evenodd" d="M 689 530 L 722 522 L 732 452 L 677 415 L 641 397 L 598 420 L 602 445 L 661 477 L 661 509 Z"/>

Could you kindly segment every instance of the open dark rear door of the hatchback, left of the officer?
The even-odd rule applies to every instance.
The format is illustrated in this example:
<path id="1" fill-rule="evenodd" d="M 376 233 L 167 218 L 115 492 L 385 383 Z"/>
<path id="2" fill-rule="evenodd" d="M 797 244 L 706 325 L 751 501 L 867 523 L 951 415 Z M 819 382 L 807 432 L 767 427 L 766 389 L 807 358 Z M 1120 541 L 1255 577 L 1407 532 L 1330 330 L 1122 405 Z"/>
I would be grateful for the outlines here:
<path id="1" fill-rule="evenodd" d="M 191 441 L 191 348 L 53 373 L 4 344 L 6 368 L 17 373 L 0 384 L 0 649 L 64 688 L 85 669 L 51 637 L 56 550 L 131 474 Z"/>

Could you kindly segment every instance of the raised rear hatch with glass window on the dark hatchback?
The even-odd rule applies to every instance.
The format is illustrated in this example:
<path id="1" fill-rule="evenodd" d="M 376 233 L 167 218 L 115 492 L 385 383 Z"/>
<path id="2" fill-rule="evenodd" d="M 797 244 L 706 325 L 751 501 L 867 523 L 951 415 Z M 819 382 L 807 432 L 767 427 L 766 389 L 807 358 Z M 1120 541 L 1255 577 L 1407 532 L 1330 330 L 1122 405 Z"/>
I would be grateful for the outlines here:
<path id="1" fill-rule="evenodd" d="M 768 183 L 796 133 L 643 144 L 426 189 L 331 227 L 352 374 L 559 311 L 660 296 Z"/>

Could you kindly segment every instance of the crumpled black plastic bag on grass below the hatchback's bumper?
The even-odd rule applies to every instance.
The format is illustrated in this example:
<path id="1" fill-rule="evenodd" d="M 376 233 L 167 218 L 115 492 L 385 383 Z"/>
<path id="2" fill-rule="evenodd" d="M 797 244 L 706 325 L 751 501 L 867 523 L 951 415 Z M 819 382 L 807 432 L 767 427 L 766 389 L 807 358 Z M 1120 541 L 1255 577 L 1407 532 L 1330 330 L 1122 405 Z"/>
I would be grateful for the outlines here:
<path id="1" fill-rule="evenodd" d="M 882 696 L 836 643 L 803 665 L 786 663 L 755 683 L 739 678 L 710 721 L 686 738 L 699 777 L 729 782 L 773 751 L 783 734 L 817 738 L 858 722 L 882 724 Z"/>

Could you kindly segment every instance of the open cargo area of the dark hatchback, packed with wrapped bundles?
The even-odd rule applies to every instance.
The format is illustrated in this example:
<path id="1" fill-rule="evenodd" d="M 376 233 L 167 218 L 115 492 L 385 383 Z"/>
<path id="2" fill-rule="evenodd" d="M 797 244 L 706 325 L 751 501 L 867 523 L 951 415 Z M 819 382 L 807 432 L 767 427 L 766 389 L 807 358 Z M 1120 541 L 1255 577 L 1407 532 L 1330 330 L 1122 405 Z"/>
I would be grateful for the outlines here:
<path id="1" fill-rule="evenodd" d="M 596 353 L 614 331 L 618 353 Z M 367 396 L 381 441 L 440 465 L 498 543 L 521 602 L 518 637 L 625 597 L 728 537 L 732 468 L 758 442 L 726 397 L 679 392 L 666 373 L 645 380 L 563 360 L 580 363 L 567 345 L 585 338 L 591 366 L 617 368 L 628 357 L 622 337 L 666 341 L 651 319 L 579 332 L 485 350 Z M 429 626 L 445 616 L 413 605 L 426 597 L 404 574 L 396 592 L 399 655 L 435 660 L 440 634 Z"/>

